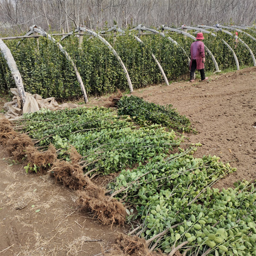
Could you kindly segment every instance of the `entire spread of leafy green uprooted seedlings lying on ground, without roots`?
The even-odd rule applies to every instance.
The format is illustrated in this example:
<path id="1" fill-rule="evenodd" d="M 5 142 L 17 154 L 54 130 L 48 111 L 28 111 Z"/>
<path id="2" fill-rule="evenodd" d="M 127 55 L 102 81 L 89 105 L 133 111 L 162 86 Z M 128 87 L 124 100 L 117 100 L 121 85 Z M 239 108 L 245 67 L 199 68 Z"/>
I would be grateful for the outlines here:
<path id="1" fill-rule="evenodd" d="M 137 101 L 124 97 L 119 113 L 140 108 Z M 183 137 L 176 137 L 169 125 L 177 122 L 175 128 L 182 130 L 189 120 L 170 106 L 141 103 L 134 116 L 119 116 L 107 108 L 43 110 L 16 121 L 16 129 L 39 147 L 52 143 L 58 157 L 67 161 L 72 145 L 88 176 L 119 173 L 107 186 L 110 198 L 125 202 L 128 221 L 138 223 L 131 233 L 145 238 L 152 250 L 160 248 L 169 255 L 177 250 L 183 255 L 256 255 L 255 184 L 243 181 L 235 189 L 214 188 L 236 169 L 215 156 L 193 157 L 200 144 L 185 147 Z M 147 108 L 151 115 L 139 118 Z M 155 116 L 163 113 L 174 119 L 168 123 L 164 115 L 165 122 L 155 124 L 160 120 Z"/>

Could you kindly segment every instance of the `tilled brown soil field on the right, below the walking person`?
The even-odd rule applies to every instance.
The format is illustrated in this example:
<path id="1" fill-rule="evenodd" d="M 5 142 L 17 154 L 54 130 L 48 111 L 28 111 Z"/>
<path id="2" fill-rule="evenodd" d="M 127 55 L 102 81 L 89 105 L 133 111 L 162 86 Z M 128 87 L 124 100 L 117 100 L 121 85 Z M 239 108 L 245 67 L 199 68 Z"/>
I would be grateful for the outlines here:
<path id="1" fill-rule="evenodd" d="M 212 76 L 209 82 L 183 82 L 136 91 L 136 96 L 161 105 L 172 104 L 191 120 L 202 143 L 196 157 L 216 155 L 237 168 L 219 181 L 230 187 L 237 180 L 256 179 L 256 67 Z"/>

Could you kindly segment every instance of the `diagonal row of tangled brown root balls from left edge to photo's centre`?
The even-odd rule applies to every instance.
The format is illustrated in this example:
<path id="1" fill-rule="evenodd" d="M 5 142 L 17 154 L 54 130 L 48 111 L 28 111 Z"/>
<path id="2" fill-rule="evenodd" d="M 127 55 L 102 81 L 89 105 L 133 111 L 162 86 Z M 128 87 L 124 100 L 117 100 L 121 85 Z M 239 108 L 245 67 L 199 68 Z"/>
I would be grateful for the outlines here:
<path id="1" fill-rule="evenodd" d="M 77 190 L 79 199 L 77 204 L 81 209 L 86 209 L 106 224 L 124 224 L 125 207 L 115 198 L 105 195 L 105 189 L 95 185 L 79 163 L 81 155 L 71 145 L 65 154 L 70 156 L 70 161 L 57 160 L 64 152 L 59 152 L 52 144 L 48 149 L 41 151 L 35 147 L 31 138 L 26 134 L 19 134 L 14 130 L 13 124 L 6 119 L 0 122 L 0 142 L 4 145 L 15 160 L 27 160 L 26 171 L 50 172 L 56 181 L 64 183 L 71 189 Z M 19 125 L 21 128 L 23 125 Z M 32 165 L 32 167 L 30 166 Z"/>

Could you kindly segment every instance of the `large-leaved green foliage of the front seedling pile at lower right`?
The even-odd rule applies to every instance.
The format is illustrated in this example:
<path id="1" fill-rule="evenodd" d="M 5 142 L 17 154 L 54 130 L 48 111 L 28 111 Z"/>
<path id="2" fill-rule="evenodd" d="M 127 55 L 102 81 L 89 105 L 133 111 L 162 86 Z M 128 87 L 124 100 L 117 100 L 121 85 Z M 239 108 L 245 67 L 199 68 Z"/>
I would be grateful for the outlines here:
<path id="1" fill-rule="evenodd" d="M 187 150 L 122 170 L 110 188 L 117 198 L 136 206 L 132 216 L 140 219 L 141 237 L 147 240 L 166 230 L 157 244 L 166 253 L 187 242 L 181 253 L 189 248 L 189 255 L 202 255 L 210 248 L 212 255 L 255 255 L 255 183 L 212 188 L 235 170 L 218 157 L 194 158 Z"/>

